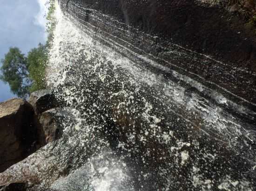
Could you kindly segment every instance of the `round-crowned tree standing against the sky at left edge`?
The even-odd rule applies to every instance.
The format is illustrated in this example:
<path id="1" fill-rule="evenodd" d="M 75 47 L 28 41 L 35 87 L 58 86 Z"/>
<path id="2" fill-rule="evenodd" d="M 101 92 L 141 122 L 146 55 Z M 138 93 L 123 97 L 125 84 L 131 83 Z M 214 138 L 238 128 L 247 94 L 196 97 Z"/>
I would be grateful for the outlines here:
<path id="1" fill-rule="evenodd" d="M 10 48 L 1 60 L 0 79 L 9 83 L 11 91 L 19 97 L 27 97 L 31 79 L 29 78 L 27 58 L 21 53 L 19 48 Z"/>

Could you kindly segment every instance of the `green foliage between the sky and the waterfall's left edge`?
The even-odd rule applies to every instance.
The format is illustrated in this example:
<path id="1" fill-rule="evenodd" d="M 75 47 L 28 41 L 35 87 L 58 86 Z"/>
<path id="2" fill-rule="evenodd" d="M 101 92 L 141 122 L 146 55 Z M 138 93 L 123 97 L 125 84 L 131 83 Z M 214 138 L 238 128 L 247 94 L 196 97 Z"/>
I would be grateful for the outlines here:
<path id="1" fill-rule="evenodd" d="M 45 45 L 39 44 L 37 48 L 31 49 L 27 56 L 21 53 L 19 48 L 10 48 L 1 60 L 0 80 L 8 83 L 13 94 L 26 98 L 30 92 L 45 89 L 45 70 L 48 64 L 49 50 L 54 39 L 55 1 L 48 0 L 47 19 L 47 41 Z"/>

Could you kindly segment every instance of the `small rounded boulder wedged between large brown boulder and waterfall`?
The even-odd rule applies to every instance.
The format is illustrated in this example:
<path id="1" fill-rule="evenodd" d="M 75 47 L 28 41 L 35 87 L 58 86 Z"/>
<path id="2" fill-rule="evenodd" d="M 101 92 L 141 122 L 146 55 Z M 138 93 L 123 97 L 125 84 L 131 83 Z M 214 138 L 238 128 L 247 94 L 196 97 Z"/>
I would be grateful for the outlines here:
<path id="1" fill-rule="evenodd" d="M 34 107 L 36 114 L 57 106 L 57 100 L 49 89 L 34 91 L 30 95 L 28 102 Z"/>

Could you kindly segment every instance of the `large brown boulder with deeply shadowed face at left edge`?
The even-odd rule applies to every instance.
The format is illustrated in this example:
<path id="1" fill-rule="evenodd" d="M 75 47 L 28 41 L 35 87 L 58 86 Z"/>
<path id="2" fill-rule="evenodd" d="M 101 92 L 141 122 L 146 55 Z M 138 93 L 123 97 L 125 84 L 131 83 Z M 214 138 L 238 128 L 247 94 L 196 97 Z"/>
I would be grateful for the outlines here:
<path id="1" fill-rule="evenodd" d="M 33 107 L 21 99 L 0 103 L 0 172 L 34 151 Z"/>

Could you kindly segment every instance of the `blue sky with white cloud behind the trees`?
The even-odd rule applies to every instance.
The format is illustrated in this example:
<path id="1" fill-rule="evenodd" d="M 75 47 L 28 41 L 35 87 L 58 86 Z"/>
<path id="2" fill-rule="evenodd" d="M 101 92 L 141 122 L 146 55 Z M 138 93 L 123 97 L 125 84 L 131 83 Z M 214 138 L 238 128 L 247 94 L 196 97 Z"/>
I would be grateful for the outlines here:
<path id="1" fill-rule="evenodd" d="M 0 59 L 10 47 L 23 53 L 45 43 L 46 0 L 0 0 Z M 0 102 L 15 97 L 8 84 L 0 81 Z"/>

